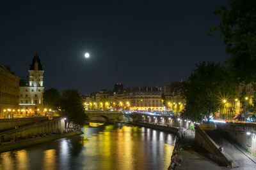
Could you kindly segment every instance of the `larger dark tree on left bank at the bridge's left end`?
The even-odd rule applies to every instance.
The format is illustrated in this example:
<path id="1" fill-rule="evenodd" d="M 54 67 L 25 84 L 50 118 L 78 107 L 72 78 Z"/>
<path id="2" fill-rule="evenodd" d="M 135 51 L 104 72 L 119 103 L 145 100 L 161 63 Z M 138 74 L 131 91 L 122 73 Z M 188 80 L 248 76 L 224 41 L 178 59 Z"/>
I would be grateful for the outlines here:
<path id="1" fill-rule="evenodd" d="M 79 125 L 84 124 L 87 117 L 85 115 L 82 96 L 77 90 L 63 90 L 59 104 L 60 110 L 58 112 L 62 117 L 67 118 L 68 126 L 70 122 Z"/>

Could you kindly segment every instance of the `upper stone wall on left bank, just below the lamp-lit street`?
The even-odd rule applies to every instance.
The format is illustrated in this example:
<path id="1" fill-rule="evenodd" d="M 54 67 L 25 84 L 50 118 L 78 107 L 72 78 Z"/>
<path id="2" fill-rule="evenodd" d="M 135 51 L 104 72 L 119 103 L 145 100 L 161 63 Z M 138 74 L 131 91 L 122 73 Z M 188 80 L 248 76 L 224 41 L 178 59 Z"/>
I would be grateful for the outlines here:
<path id="1" fill-rule="evenodd" d="M 47 120 L 47 117 L 36 117 L 36 118 L 1 118 L 0 119 L 0 131 L 7 131 L 19 127 L 22 125 L 33 124 Z"/>

